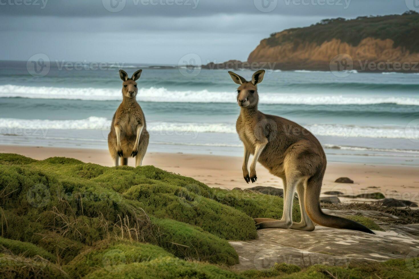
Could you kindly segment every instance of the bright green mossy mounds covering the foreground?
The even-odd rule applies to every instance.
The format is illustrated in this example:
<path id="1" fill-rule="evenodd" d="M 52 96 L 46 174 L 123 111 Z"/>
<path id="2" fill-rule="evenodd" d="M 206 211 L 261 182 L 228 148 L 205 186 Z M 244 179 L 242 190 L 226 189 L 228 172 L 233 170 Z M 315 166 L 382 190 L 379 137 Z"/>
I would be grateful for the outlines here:
<path id="1" fill-rule="evenodd" d="M 238 255 L 228 240 L 256 238 L 252 218 L 280 218 L 282 198 L 210 188 L 153 166 L 109 168 L 61 157 L 36 161 L 0 154 L 0 200 L 1 278 L 416 275 L 404 260 L 349 268 L 230 269 Z M 293 211 L 298 221 L 297 203 Z"/>

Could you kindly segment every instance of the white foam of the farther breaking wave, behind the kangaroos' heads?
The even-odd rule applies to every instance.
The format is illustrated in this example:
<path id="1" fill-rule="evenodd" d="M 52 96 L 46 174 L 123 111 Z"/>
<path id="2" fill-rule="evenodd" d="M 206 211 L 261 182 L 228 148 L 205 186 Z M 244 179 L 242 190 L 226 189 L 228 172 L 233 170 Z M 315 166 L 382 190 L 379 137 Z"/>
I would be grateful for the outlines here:
<path id="1" fill-rule="evenodd" d="M 40 99 L 69 100 L 121 100 L 120 89 L 107 88 L 59 88 L 1 85 L 0 97 L 24 97 Z M 216 102 L 234 103 L 234 92 L 176 91 L 159 88 L 141 88 L 137 99 L 143 102 Z M 366 97 L 343 95 L 310 95 L 288 93 L 264 93 L 259 96 L 264 104 L 305 104 L 305 105 L 368 105 L 394 103 L 398 105 L 419 105 L 419 98 L 412 97 Z"/>

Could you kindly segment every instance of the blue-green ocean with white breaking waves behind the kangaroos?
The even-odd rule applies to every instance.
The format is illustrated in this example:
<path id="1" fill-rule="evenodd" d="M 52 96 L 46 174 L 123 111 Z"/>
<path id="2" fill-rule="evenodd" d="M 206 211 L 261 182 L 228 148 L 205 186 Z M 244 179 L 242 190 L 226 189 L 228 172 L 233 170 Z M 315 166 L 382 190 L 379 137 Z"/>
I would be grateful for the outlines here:
<path id="1" fill-rule="evenodd" d="M 0 61 L 0 144 L 107 149 L 122 100 L 119 67 L 85 66 L 51 63 L 36 77 L 26 61 Z M 148 152 L 242 156 L 237 85 L 227 70 L 122 69 L 129 76 L 143 69 L 137 101 L 150 132 Z M 258 91 L 259 110 L 308 128 L 328 161 L 419 165 L 418 74 L 267 70 Z"/>

